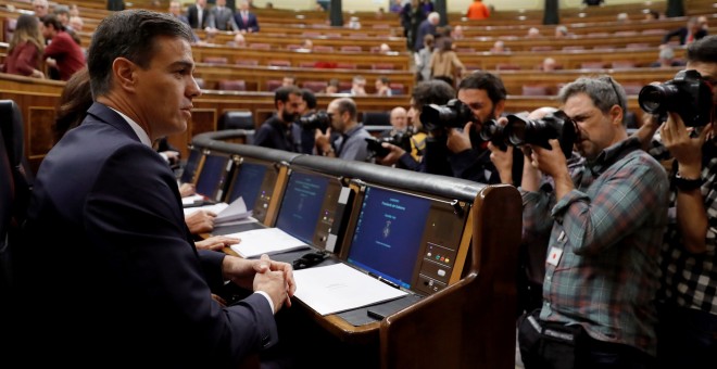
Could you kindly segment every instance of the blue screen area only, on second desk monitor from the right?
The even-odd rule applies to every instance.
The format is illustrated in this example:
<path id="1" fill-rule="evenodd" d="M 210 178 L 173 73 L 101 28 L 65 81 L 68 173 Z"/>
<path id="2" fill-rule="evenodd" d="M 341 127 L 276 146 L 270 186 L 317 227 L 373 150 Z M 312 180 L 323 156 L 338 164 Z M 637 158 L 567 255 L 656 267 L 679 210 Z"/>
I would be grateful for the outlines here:
<path id="1" fill-rule="evenodd" d="M 289 177 L 276 228 L 312 244 L 328 177 L 293 171 Z"/>

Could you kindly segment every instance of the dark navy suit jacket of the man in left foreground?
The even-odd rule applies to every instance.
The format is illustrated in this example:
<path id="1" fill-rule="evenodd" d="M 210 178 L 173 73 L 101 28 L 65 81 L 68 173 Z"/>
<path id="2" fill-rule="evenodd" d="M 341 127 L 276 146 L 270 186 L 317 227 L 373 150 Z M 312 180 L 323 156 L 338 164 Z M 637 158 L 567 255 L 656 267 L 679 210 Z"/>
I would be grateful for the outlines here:
<path id="1" fill-rule="evenodd" d="M 48 304 L 24 322 L 43 351 L 29 361 L 236 368 L 276 342 L 264 296 L 212 300 L 225 255 L 194 249 L 173 173 L 113 110 L 89 109 L 46 156 L 35 190 L 32 264 L 21 265 Z"/>

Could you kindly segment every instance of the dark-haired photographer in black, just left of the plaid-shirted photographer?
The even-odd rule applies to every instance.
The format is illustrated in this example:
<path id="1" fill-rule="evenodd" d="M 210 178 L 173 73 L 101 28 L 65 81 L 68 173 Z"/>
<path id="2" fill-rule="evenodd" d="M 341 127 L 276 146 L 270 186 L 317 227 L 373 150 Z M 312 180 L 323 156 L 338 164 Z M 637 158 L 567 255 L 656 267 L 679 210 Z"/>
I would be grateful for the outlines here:
<path id="1" fill-rule="evenodd" d="M 495 75 L 487 72 L 476 72 L 467 76 L 458 85 L 458 100 L 473 112 L 475 120 L 465 124 L 461 129 L 448 130 L 448 149 L 453 176 L 474 180 L 481 183 L 500 183 L 501 178 L 495 166 L 490 161 L 488 142 L 478 137 L 483 125 L 496 119 L 505 107 L 507 93 L 503 81 Z M 507 183 L 520 183 L 523 154 L 514 153 L 515 165 Z"/>

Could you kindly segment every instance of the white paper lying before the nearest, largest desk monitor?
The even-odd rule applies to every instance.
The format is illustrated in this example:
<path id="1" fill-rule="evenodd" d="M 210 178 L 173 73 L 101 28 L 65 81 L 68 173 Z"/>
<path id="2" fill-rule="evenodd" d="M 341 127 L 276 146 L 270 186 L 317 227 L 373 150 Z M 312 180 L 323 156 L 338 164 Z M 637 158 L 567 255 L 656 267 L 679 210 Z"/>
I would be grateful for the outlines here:
<path id="1" fill-rule="evenodd" d="M 320 315 L 368 306 L 406 295 L 345 264 L 293 271 L 294 296 Z"/>

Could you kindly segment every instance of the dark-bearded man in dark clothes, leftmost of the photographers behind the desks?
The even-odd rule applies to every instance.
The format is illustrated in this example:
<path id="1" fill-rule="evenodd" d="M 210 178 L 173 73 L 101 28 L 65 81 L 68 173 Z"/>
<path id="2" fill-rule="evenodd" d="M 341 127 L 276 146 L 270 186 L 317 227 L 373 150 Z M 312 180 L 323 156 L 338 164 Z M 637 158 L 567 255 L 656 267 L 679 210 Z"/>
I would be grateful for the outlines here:
<path id="1" fill-rule="evenodd" d="M 274 92 L 276 114 L 254 133 L 257 147 L 301 152 L 301 127 L 294 122 L 303 106 L 302 91 L 295 86 L 279 87 Z"/>

